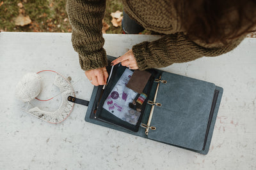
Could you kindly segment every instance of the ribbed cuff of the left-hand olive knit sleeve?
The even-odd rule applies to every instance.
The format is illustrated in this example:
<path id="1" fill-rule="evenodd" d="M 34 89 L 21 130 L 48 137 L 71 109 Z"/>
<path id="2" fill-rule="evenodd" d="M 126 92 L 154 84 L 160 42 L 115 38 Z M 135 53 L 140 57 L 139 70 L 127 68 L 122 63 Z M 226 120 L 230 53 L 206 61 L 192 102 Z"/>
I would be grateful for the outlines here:
<path id="1" fill-rule="evenodd" d="M 81 69 L 84 71 L 108 66 L 108 59 L 104 49 L 90 53 L 90 55 L 79 55 L 79 62 Z"/>

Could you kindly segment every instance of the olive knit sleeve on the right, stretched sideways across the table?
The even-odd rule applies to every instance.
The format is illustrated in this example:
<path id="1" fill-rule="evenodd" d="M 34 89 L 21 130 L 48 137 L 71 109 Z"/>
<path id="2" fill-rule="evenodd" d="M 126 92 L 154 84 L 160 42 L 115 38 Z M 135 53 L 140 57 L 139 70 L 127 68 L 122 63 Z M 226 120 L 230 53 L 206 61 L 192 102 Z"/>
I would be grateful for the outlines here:
<path id="1" fill-rule="evenodd" d="M 163 36 L 152 41 L 143 42 L 132 47 L 132 52 L 140 70 L 152 67 L 166 67 L 173 63 L 188 62 L 203 56 L 218 56 L 236 48 L 244 39 L 238 38 L 235 41 L 218 47 L 212 47 L 204 43 L 191 41 L 183 32 L 177 32 Z"/>

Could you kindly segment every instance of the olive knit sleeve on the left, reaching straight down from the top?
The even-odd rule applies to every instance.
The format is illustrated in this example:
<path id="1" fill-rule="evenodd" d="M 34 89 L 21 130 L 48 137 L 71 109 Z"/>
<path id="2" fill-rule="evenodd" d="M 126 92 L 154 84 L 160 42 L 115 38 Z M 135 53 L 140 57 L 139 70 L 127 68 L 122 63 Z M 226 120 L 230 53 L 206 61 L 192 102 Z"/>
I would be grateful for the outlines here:
<path id="1" fill-rule="evenodd" d="M 72 45 L 84 71 L 107 66 L 101 32 L 105 9 L 106 1 L 103 0 L 67 0 Z"/>

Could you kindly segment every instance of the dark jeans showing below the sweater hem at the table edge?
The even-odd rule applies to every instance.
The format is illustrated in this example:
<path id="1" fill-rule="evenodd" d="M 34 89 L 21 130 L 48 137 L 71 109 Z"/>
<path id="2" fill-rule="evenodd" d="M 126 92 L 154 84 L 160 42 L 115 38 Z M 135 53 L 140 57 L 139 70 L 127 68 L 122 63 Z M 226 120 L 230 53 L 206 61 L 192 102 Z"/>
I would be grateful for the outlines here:
<path id="1" fill-rule="evenodd" d="M 125 34 L 139 34 L 144 31 L 141 25 L 139 25 L 135 20 L 132 20 L 125 11 L 123 11 L 122 29 Z"/>

